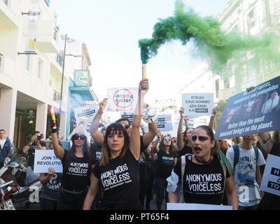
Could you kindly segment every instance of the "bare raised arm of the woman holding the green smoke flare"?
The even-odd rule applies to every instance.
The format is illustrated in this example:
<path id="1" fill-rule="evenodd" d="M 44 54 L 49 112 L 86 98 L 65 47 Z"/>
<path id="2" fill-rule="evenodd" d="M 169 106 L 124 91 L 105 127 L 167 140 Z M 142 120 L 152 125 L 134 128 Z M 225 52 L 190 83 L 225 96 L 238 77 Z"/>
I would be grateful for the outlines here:
<path id="1" fill-rule="evenodd" d="M 141 80 L 139 83 L 138 102 L 134 111 L 132 130 L 130 131 L 130 151 L 136 160 L 140 157 L 140 123 L 144 108 L 144 97 L 148 92 L 148 79 Z"/>

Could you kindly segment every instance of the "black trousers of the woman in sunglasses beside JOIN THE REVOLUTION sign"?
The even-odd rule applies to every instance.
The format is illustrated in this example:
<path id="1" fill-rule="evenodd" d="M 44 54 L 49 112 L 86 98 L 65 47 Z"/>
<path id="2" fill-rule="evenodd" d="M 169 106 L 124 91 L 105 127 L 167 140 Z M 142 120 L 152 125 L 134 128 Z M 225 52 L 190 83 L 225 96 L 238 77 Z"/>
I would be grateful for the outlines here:
<path id="1" fill-rule="evenodd" d="M 60 192 L 57 209 L 58 210 L 82 210 L 83 202 L 85 201 L 85 196 L 87 195 L 87 190 L 84 190 L 80 194 L 68 193 L 64 190 Z"/>

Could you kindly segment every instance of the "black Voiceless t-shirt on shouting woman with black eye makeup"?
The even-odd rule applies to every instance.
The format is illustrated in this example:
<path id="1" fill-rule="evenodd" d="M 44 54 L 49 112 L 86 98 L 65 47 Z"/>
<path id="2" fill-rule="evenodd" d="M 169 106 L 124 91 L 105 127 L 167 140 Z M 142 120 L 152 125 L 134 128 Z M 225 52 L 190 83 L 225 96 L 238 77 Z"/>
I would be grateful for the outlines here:
<path id="1" fill-rule="evenodd" d="M 186 167 L 183 175 L 183 194 L 186 203 L 222 204 L 225 176 L 218 157 L 208 165 L 197 165 L 186 156 Z M 181 182 L 181 158 L 174 167 L 174 172 Z M 227 175 L 228 178 L 230 174 Z"/>

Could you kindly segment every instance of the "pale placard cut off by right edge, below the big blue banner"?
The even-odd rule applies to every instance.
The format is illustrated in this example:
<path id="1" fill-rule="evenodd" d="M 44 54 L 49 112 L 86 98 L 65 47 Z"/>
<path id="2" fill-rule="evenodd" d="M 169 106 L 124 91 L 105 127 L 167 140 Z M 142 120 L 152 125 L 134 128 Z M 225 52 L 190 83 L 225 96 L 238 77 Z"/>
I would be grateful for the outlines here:
<path id="1" fill-rule="evenodd" d="M 260 190 L 280 196 L 280 157 L 269 154 Z"/>

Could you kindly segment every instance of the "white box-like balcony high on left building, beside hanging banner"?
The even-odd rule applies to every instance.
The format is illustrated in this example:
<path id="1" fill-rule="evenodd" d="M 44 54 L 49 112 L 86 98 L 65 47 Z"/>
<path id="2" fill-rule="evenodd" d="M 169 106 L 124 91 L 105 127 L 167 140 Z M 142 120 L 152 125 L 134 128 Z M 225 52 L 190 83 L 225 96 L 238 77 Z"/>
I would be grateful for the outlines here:
<path id="1" fill-rule="evenodd" d="M 44 53 L 58 53 L 57 29 L 53 28 L 52 21 L 39 20 L 37 25 L 36 48 Z"/>

